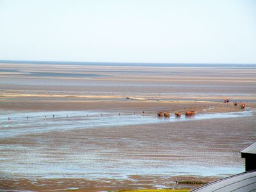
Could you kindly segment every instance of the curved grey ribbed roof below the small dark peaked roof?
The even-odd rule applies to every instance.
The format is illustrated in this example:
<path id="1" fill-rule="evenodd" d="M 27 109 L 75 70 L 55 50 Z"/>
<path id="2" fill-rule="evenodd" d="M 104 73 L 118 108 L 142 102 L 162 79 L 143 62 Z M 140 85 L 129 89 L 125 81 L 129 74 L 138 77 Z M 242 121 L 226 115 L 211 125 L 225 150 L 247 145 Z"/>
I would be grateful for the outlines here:
<path id="1" fill-rule="evenodd" d="M 256 170 L 216 180 L 192 191 L 256 191 Z"/>

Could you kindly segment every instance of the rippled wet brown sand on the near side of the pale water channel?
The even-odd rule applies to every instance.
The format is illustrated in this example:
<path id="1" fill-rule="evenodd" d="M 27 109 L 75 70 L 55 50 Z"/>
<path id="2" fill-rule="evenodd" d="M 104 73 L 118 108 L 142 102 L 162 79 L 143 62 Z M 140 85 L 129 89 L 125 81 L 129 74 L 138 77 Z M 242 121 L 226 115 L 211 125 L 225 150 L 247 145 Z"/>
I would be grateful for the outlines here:
<path id="1" fill-rule="evenodd" d="M 35 191 L 195 188 L 175 180 L 215 180 L 243 172 L 239 150 L 255 138 L 255 123 L 255 116 L 248 116 L 2 138 L 0 186 Z"/>

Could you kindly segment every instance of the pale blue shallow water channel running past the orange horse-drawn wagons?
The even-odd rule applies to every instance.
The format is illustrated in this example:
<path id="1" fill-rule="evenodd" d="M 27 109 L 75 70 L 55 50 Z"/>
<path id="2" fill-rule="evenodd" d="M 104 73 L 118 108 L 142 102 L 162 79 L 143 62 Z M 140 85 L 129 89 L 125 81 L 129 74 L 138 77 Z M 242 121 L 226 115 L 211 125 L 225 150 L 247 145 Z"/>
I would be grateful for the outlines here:
<path id="1" fill-rule="evenodd" d="M 182 115 L 180 118 L 176 118 L 172 114 L 170 118 L 159 118 L 156 115 L 133 115 L 127 113 L 120 113 L 119 115 L 119 113 L 99 113 L 95 111 L 0 111 L 0 138 L 93 127 L 159 124 L 214 118 L 242 118 L 252 116 L 253 113 L 255 113 L 255 109 L 247 108 L 244 111 L 231 113 L 202 113 L 191 117 Z M 8 117 L 12 120 L 8 120 Z"/>

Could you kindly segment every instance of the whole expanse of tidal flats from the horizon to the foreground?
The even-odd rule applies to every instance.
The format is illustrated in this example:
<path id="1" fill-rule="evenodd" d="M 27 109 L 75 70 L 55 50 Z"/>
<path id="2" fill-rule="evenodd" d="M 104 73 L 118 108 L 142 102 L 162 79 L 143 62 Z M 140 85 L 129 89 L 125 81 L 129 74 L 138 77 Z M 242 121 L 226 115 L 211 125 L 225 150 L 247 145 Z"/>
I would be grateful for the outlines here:
<path id="1" fill-rule="evenodd" d="M 0 189 L 193 189 L 179 181 L 244 172 L 255 74 L 254 65 L 1 63 Z"/>

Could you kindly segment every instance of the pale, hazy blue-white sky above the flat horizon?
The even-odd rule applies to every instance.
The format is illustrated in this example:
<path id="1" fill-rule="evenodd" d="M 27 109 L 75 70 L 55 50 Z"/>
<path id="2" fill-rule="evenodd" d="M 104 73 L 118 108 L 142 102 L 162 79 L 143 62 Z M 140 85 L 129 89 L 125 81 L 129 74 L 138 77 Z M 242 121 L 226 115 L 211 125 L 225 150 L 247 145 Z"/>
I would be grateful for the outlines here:
<path id="1" fill-rule="evenodd" d="M 0 60 L 256 63 L 256 1 L 0 0 Z"/>

